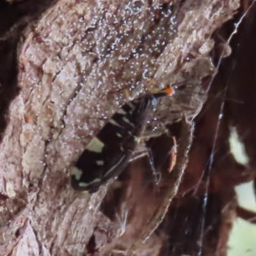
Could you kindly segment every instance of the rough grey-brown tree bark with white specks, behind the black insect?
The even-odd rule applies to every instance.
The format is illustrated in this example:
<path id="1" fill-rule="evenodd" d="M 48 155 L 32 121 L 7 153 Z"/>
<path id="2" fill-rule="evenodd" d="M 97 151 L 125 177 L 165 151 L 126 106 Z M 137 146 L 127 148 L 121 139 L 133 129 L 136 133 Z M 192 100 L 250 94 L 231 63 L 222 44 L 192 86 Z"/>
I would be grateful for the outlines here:
<path id="1" fill-rule="evenodd" d="M 184 254 L 172 254 L 168 247 L 168 219 L 156 230 L 177 194 L 191 144 L 193 125 L 183 119 L 185 132 L 176 134 L 172 124 L 183 115 L 191 120 L 202 108 L 205 79 L 217 71 L 209 56 L 211 35 L 238 7 L 239 1 L 220 0 L 58 1 L 35 28 L 23 31 L 26 40 L 18 49 L 19 72 L 13 77 L 20 91 L 9 102 L 0 149 L 3 255 Z M 143 173 L 150 172 L 145 159 L 93 195 L 70 188 L 68 168 L 104 118 L 127 101 L 124 89 L 137 97 L 185 80 L 188 90 L 162 100 L 145 125 L 147 137 L 163 135 L 167 125 L 177 138 L 176 168 L 168 173 L 160 164 L 164 179 L 157 193 L 152 182 L 145 185 L 150 177 Z M 164 136 L 168 141 L 170 136 Z M 113 198 L 118 201 L 114 213 L 109 211 Z M 211 200 L 207 209 L 219 211 L 218 196 Z M 122 212 L 128 212 L 125 227 Z M 206 240 L 204 255 L 212 255 L 220 247 L 218 239 Z M 186 254 L 196 250 L 191 246 Z"/>

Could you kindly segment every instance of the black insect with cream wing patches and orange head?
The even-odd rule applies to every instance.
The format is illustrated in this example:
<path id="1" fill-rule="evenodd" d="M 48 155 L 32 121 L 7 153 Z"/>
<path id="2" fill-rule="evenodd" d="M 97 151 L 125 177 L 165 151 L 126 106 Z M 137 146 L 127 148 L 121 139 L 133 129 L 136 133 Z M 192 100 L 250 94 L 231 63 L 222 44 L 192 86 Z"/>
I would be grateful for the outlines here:
<path id="1" fill-rule="evenodd" d="M 71 168 L 71 186 L 76 191 L 95 193 L 109 179 L 118 176 L 127 166 L 147 118 L 147 114 L 174 88 L 146 93 L 125 103 L 102 127 L 97 136 Z"/>

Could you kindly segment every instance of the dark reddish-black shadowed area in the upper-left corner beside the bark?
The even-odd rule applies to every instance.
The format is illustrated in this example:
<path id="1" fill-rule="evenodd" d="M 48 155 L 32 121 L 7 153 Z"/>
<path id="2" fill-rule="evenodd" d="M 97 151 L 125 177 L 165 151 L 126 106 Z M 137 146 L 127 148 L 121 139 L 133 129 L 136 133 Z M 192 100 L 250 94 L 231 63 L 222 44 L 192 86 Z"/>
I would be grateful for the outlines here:
<path id="1" fill-rule="evenodd" d="M 17 84 L 17 45 L 22 44 L 26 35 L 24 28 L 29 31 L 36 26 L 36 21 L 55 0 L 47 1 L 0 1 L 0 132 L 6 127 L 6 113 L 13 97 L 19 92 Z M 18 47 L 20 48 L 20 47 Z M 7 121 L 8 122 L 8 121 Z"/>

